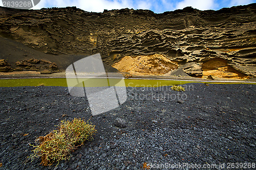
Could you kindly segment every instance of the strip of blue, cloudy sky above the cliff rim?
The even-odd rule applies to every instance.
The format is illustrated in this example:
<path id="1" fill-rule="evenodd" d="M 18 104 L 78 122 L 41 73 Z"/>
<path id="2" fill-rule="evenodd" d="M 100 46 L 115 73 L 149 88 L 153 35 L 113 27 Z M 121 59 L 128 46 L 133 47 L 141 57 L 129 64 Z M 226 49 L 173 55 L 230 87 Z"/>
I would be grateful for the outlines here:
<path id="1" fill-rule="evenodd" d="M 103 12 L 104 9 L 133 8 L 163 13 L 165 11 L 183 9 L 188 6 L 199 10 L 219 10 L 221 8 L 251 3 L 256 3 L 256 0 L 41 0 L 32 9 L 76 6 L 88 12 Z M 2 1 L 0 1 L 0 6 L 3 6 Z"/>

